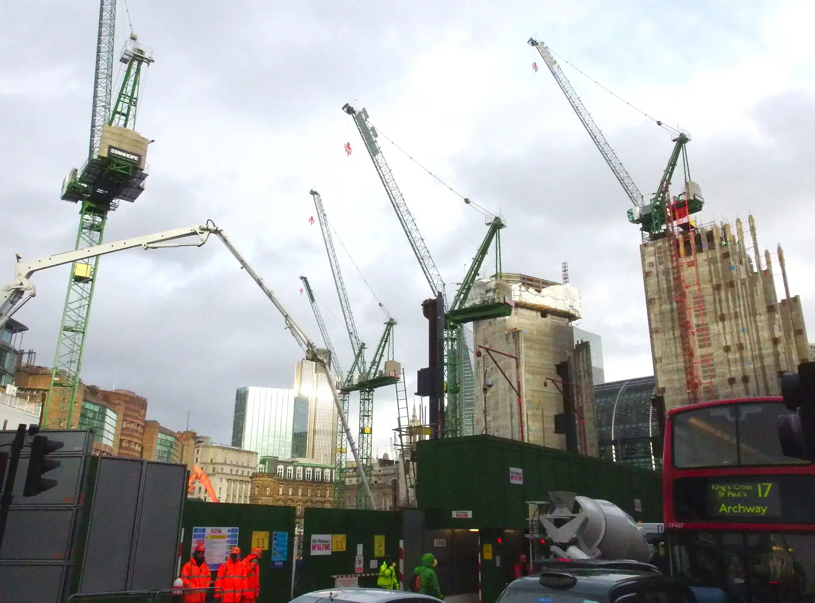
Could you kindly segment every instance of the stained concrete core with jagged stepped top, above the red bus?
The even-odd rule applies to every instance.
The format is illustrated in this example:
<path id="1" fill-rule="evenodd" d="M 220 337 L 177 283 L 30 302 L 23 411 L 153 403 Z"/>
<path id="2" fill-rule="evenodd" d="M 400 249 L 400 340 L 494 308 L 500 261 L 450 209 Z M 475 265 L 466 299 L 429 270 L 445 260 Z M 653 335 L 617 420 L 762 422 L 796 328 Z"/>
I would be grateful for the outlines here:
<path id="1" fill-rule="evenodd" d="M 749 229 L 747 238 L 740 220 L 735 232 L 728 223 L 703 225 L 640 247 L 654 375 L 666 409 L 688 402 L 672 241 L 684 259 L 687 281 L 698 283 L 688 291 L 688 307 L 700 401 L 778 395 L 780 375 L 808 360 L 804 314 L 800 297 L 790 294 L 782 248 L 777 256 L 785 296 L 779 301 L 773 262 L 769 251 L 762 257 L 753 216 Z"/>

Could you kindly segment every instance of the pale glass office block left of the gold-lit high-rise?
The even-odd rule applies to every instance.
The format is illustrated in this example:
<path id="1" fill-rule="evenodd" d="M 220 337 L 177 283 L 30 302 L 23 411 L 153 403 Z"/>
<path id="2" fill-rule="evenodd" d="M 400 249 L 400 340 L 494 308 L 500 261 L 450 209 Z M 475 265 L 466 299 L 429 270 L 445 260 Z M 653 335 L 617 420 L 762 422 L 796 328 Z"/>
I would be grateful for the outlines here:
<path id="1" fill-rule="evenodd" d="M 232 446 L 260 457 L 291 458 L 294 391 L 279 387 L 241 387 L 235 393 Z"/>

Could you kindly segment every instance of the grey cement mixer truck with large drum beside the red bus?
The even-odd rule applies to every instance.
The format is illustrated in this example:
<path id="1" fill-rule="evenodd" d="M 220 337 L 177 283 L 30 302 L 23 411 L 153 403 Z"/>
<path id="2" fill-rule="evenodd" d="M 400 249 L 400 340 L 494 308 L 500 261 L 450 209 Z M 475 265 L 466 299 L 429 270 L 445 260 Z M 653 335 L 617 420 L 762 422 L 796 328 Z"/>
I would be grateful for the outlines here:
<path id="1" fill-rule="evenodd" d="M 549 498 L 529 503 L 533 567 L 551 558 L 659 561 L 661 523 L 637 523 L 614 503 L 575 492 Z"/>

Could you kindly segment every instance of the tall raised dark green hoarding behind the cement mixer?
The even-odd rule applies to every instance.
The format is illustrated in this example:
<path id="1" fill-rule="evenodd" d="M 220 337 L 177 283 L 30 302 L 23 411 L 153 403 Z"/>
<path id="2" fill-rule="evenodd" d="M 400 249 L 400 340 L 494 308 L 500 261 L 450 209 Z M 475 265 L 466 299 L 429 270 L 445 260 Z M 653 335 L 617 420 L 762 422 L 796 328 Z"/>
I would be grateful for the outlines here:
<path id="1" fill-rule="evenodd" d="M 636 521 L 662 521 L 658 471 L 492 435 L 424 440 L 416 447 L 416 500 L 425 509 L 425 527 L 522 530 L 526 502 L 548 500 L 556 491 L 609 500 Z"/>

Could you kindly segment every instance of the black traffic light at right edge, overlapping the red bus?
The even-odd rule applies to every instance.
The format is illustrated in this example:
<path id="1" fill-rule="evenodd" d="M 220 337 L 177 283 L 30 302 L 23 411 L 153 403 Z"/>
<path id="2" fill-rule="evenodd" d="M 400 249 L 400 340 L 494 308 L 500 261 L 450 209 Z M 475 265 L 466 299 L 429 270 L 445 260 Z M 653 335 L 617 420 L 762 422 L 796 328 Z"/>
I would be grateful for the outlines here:
<path id="1" fill-rule="evenodd" d="M 781 393 L 792 412 L 778 416 L 778 440 L 786 457 L 815 461 L 815 362 L 781 377 Z"/>

